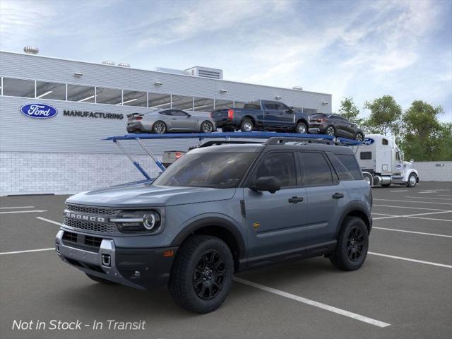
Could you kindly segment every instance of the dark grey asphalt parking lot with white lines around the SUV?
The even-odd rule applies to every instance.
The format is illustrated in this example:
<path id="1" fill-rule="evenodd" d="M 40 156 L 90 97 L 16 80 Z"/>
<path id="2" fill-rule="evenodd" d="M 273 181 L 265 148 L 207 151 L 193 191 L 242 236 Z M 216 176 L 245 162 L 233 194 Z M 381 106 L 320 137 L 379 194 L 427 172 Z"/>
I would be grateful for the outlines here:
<path id="1" fill-rule="evenodd" d="M 374 188 L 360 270 L 312 258 L 241 273 L 225 304 L 203 316 L 179 309 L 165 288 L 98 284 L 60 261 L 52 247 L 65 198 L 0 198 L 0 338 L 452 337 L 452 182 Z M 13 329 L 52 319 L 90 326 Z M 109 330 L 108 320 L 146 323 Z"/>

